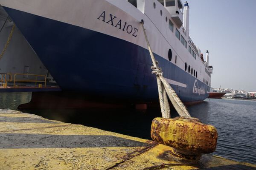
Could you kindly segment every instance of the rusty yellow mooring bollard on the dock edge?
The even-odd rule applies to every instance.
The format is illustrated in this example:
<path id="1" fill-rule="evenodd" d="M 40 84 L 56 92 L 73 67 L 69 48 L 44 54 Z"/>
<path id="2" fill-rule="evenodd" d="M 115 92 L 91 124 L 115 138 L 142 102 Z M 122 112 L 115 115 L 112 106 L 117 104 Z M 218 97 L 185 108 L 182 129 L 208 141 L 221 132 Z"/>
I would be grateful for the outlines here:
<path id="1" fill-rule="evenodd" d="M 155 118 L 151 125 L 151 138 L 172 147 L 172 156 L 195 160 L 202 153 L 215 151 L 218 133 L 214 126 L 201 123 L 197 118 Z"/>

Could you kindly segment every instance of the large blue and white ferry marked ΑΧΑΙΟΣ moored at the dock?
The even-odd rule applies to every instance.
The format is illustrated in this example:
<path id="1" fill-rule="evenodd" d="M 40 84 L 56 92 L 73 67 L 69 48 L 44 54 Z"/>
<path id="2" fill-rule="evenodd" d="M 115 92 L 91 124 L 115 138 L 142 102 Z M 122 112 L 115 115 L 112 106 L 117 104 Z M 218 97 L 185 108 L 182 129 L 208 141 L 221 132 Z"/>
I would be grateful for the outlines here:
<path id="1" fill-rule="evenodd" d="M 63 91 L 158 100 L 142 23 L 163 77 L 185 105 L 209 96 L 209 53 L 189 37 L 180 0 L 0 0 Z"/>

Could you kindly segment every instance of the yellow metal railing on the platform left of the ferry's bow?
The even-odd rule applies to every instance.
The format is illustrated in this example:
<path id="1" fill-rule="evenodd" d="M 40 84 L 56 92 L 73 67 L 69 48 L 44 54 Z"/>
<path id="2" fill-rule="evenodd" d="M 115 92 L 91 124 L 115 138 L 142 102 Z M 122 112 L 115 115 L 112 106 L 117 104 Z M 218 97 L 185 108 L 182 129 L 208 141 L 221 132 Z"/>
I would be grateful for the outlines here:
<path id="1" fill-rule="evenodd" d="M 4 84 L 7 86 L 8 82 L 13 82 L 13 87 L 15 87 L 15 82 L 35 82 L 35 86 L 37 86 L 38 82 L 44 82 L 44 87 L 46 87 L 46 76 L 39 74 L 19 74 L 19 73 L 0 73 L 1 74 L 1 86 Z M 19 76 L 23 76 L 23 78 L 33 78 L 33 79 L 20 79 Z M 41 78 L 43 77 L 43 78 Z M 19 79 L 18 79 L 19 78 Z M 40 80 L 44 79 L 44 80 Z"/>

